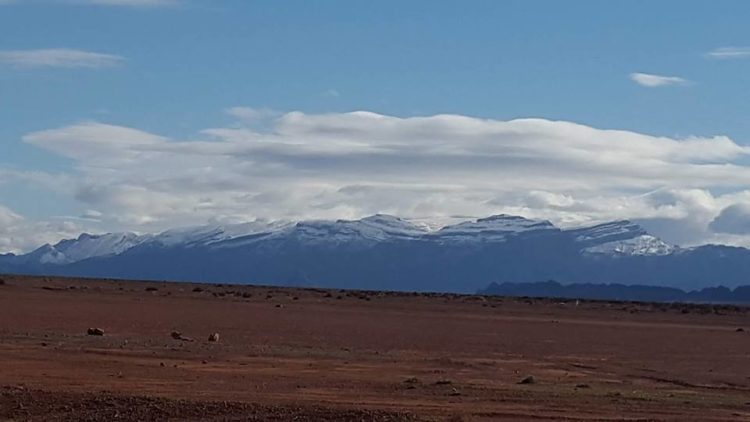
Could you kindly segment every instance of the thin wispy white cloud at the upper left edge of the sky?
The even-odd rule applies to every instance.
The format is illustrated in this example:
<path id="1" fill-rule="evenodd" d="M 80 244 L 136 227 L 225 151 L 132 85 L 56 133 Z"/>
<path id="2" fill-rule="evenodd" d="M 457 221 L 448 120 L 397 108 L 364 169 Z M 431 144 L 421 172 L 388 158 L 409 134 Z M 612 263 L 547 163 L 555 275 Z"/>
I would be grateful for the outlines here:
<path id="1" fill-rule="evenodd" d="M 112 54 L 68 48 L 0 51 L 0 64 L 4 63 L 25 68 L 60 67 L 93 69 L 117 66 L 123 60 L 122 57 Z"/>

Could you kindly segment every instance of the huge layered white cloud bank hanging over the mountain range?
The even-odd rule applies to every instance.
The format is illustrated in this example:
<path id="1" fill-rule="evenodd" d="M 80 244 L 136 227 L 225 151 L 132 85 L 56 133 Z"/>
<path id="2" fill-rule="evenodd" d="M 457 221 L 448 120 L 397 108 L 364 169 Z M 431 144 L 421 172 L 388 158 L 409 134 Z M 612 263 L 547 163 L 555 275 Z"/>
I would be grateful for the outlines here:
<path id="1" fill-rule="evenodd" d="M 230 110 L 257 117 L 255 109 Z M 723 136 L 677 139 L 544 119 L 369 112 L 292 112 L 264 130 L 202 133 L 206 139 L 176 140 L 81 122 L 24 141 L 73 161 L 64 183 L 35 177 L 75 198 L 80 214 L 101 220 L 105 230 L 505 212 L 562 225 L 631 218 L 684 244 L 747 241 L 709 227 L 724 208 L 750 204 L 750 148 Z"/>

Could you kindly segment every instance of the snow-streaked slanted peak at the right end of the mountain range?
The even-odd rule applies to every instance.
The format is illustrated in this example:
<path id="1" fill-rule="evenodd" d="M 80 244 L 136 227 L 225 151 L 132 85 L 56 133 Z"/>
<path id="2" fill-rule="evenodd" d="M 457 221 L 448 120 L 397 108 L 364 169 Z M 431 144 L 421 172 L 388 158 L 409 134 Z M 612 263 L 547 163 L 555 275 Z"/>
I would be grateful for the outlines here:
<path id="1" fill-rule="evenodd" d="M 675 245 L 649 234 L 643 227 L 623 220 L 568 230 L 583 252 L 607 255 L 669 255 Z"/>

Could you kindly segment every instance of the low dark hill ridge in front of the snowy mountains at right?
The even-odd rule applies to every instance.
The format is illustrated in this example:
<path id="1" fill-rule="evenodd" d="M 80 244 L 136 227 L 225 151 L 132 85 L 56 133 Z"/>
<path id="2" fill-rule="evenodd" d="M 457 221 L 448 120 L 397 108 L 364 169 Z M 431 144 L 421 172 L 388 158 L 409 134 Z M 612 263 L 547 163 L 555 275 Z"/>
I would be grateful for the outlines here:
<path id="1" fill-rule="evenodd" d="M 733 290 L 726 287 L 707 287 L 686 292 L 674 287 L 590 283 L 563 285 L 556 281 L 543 281 L 536 283 L 492 283 L 477 293 L 487 296 L 553 297 L 634 302 L 750 304 L 750 286 L 740 286 Z"/>

